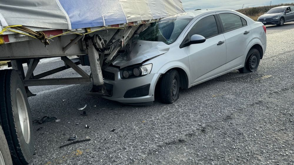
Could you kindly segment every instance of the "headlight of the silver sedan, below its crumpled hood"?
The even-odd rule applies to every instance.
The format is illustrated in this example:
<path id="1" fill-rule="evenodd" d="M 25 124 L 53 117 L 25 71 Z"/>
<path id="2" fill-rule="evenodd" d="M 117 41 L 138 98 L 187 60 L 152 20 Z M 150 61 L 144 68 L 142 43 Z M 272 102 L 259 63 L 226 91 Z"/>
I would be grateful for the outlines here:
<path id="1" fill-rule="evenodd" d="M 137 67 L 127 67 L 126 69 L 121 70 L 122 79 L 131 79 L 140 76 L 145 76 L 151 73 L 152 64 L 146 64 Z"/>

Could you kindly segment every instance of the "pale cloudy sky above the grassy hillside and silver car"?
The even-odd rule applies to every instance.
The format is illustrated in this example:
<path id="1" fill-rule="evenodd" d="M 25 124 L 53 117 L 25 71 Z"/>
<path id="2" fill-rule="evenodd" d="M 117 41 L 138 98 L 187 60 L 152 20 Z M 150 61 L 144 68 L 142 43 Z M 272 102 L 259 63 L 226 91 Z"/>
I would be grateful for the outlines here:
<path id="1" fill-rule="evenodd" d="M 182 0 L 185 11 L 195 9 L 233 9 L 245 7 L 269 5 L 270 0 Z M 272 0 L 272 4 L 289 3 L 294 0 Z"/>

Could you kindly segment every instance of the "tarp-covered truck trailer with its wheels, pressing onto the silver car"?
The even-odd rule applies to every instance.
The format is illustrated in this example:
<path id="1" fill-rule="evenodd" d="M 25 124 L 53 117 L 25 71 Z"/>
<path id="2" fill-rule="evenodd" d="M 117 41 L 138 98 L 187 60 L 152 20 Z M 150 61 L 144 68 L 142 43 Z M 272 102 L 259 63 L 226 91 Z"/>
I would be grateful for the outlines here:
<path id="1" fill-rule="evenodd" d="M 29 86 L 93 84 L 89 95 L 111 96 L 116 91 L 104 79 L 113 75 L 103 69 L 127 55 L 134 36 L 146 27 L 183 12 L 181 0 L 0 2 L 0 61 L 12 67 L 0 70 L 0 164 L 29 164 L 34 153 L 28 97 L 36 95 Z M 64 66 L 34 75 L 40 59 L 53 57 Z M 78 65 L 90 66 L 91 74 Z M 80 76 L 46 78 L 69 68 Z"/>

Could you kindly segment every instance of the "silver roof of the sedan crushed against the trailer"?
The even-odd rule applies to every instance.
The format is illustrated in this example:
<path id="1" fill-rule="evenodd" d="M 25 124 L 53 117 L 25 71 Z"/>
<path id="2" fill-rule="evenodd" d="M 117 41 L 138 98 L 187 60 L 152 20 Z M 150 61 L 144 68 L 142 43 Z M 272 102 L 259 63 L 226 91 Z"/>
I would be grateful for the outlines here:
<path id="1" fill-rule="evenodd" d="M 195 10 L 195 11 L 188 11 L 186 13 L 180 13 L 176 14 L 174 16 L 169 16 L 166 18 L 163 18 L 161 21 L 165 20 L 171 20 L 171 19 L 183 19 L 183 18 L 195 18 L 200 15 L 205 15 L 208 13 L 214 13 L 214 12 L 219 12 L 219 11 L 233 11 L 229 9 L 220 9 L 220 10 Z"/>

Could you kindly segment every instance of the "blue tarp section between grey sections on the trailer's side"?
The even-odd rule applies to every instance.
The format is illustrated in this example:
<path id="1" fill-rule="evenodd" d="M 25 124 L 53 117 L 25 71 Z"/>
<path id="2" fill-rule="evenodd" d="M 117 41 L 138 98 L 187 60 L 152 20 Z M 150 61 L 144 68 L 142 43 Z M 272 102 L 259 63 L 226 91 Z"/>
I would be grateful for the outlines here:
<path id="1" fill-rule="evenodd" d="M 69 15 L 71 28 L 88 28 L 126 23 L 126 17 L 118 0 L 59 0 Z"/>

